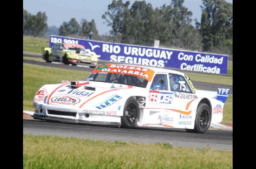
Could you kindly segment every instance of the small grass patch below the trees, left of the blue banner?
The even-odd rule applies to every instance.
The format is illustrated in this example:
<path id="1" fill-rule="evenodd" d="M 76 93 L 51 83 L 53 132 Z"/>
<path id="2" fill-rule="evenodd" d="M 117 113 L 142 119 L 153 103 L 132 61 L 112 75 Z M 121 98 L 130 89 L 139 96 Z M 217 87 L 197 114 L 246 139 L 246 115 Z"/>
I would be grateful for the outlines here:
<path id="1" fill-rule="evenodd" d="M 44 47 L 49 48 L 49 38 L 35 38 L 23 35 L 23 51 L 42 53 Z"/>

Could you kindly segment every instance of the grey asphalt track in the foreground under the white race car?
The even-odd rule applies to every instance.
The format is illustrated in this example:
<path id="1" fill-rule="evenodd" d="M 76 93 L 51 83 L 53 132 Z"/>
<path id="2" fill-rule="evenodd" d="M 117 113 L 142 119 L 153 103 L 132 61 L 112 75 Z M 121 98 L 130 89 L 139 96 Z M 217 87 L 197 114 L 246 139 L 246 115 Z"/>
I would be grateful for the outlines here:
<path id="1" fill-rule="evenodd" d="M 208 130 L 204 134 L 188 133 L 185 129 L 135 128 L 92 126 L 84 124 L 55 123 L 23 120 L 23 133 L 106 141 L 134 143 L 171 143 L 173 146 L 213 148 L 233 151 L 233 131 Z"/>

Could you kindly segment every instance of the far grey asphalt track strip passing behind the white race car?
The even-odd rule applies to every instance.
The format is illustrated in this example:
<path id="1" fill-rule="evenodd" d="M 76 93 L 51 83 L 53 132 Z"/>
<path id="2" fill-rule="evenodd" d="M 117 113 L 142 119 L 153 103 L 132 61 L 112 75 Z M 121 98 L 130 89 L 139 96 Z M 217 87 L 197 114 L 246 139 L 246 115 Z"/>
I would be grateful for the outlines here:
<path id="1" fill-rule="evenodd" d="M 28 56 L 28 55 L 26 55 L 26 56 Z M 32 56 L 36 56 L 36 55 L 32 55 Z M 41 66 L 47 66 L 47 67 L 62 68 L 62 69 L 70 69 L 70 70 L 89 71 L 89 72 L 91 72 L 93 70 L 93 68 L 89 68 L 89 67 L 79 67 L 79 66 L 72 66 L 72 65 L 55 64 L 55 63 L 48 63 L 45 61 L 34 61 L 34 60 L 28 60 L 28 59 L 23 59 L 23 63 L 29 63 L 29 64 L 41 65 Z M 106 61 L 99 62 L 99 64 L 104 64 L 104 63 L 106 63 Z M 230 89 L 230 94 L 233 94 L 233 86 L 231 86 L 231 85 L 218 85 L 218 84 L 212 84 L 212 83 L 206 83 L 206 82 L 197 82 L 197 81 L 193 81 L 193 80 L 192 80 L 192 82 L 193 82 L 195 88 L 198 90 L 217 92 L 217 88 L 222 87 L 222 88 Z"/>

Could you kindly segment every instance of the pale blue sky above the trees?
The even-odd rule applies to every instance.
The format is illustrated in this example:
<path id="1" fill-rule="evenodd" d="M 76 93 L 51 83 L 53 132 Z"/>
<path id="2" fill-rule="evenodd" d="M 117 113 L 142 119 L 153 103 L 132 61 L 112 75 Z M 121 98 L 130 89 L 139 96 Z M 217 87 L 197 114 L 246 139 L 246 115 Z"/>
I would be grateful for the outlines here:
<path id="1" fill-rule="evenodd" d="M 127 0 L 123 0 L 126 2 Z M 130 6 L 136 0 L 130 0 Z M 139 0 L 140 1 L 140 0 Z M 171 0 L 145 0 L 146 3 L 152 4 L 152 7 L 160 7 L 163 4 L 170 5 Z M 233 0 L 226 0 L 228 3 L 233 4 Z M 109 34 L 111 30 L 110 26 L 103 24 L 105 21 L 101 18 L 104 12 L 108 11 L 108 4 L 111 4 L 112 0 L 23 0 L 23 9 L 29 13 L 36 15 L 38 11 L 46 13 L 47 25 L 57 26 L 58 28 L 64 21 L 68 22 L 71 18 L 76 18 L 76 21 L 80 24 L 82 18 L 87 21 L 95 20 L 99 35 Z M 202 0 L 185 0 L 184 6 L 189 11 L 193 12 L 192 19 L 194 25 L 194 19 L 200 22 L 201 20 L 201 8 Z M 195 26 L 195 25 L 194 25 Z"/>

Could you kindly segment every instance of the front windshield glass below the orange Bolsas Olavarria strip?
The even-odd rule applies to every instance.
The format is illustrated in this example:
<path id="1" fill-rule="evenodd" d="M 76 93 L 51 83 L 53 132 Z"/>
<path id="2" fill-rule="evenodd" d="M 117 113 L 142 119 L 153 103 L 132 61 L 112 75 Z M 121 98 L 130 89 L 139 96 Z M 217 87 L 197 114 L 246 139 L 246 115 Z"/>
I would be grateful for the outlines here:
<path id="1" fill-rule="evenodd" d="M 86 81 L 117 83 L 122 85 L 133 85 L 146 88 L 148 81 L 142 77 L 125 75 L 121 73 L 92 73 Z"/>

